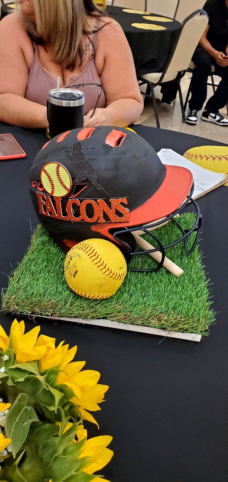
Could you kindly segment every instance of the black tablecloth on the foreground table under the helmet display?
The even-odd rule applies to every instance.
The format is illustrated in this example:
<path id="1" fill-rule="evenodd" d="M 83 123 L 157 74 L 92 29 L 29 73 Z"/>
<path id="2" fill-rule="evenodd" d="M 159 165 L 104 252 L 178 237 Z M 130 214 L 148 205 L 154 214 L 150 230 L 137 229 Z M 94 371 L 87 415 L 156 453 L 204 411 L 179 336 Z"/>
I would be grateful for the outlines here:
<path id="1" fill-rule="evenodd" d="M 218 143 L 188 134 L 135 126 L 157 151 Z M 28 194 L 28 171 L 46 142 L 42 133 L 0 124 L 27 152 L 23 160 L 0 161 L 0 286 L 15 268 L 36 225 Z M 227 482 L 227 287 L 228 187 L 198 200 L 201 249 L 217 312 L 211 334 L 200 343 L 153 335 L 52 323 L 36 319 L 45 335 L 78 344 L 78 360 L 99 370 L 109 384 L 96 413 L 100 434 L 114 437 L 114 457 L 101 472 L 112 482 Z M 190 209 L 190 208 L 189 208 Z M 30 227 L 31 225 L 31 227 Z M 32 280 L 31 280 L 32 282 Z M 18 317 L 18 319 L 21 319 Z M 9 329 L 11 314 L 0 313 Z M 24 316 L 27 329 L 34 321 Z M 93 435 L 97 435 L 94 427 Z"/>

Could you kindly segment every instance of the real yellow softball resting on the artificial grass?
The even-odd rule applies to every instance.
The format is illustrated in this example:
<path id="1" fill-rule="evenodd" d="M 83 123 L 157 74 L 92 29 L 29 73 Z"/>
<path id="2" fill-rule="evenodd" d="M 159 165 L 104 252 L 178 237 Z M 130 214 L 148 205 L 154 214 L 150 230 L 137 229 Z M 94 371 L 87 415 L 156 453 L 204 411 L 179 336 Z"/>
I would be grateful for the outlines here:
<path id="1" fill-rule="evenodd" d="M 95 238 L 81 241 L 68 251 L 64 274 L 77 295 L 98 300 L 116 293 L 127 274 L 127 265 L 114 244 Z"/>

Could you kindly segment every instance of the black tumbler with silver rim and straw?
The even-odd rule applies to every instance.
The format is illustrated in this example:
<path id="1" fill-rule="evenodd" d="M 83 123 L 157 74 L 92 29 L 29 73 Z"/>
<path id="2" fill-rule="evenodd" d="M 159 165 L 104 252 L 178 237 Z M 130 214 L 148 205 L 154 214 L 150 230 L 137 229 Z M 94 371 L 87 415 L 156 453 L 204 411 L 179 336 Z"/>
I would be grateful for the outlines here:
<path id="1" fill-rule="evenodd" d="M 49 135 L 55 135 L 77 129 L 84 125 L 84 93 L 76 89 L 57 89 L 49 91 L 47 101 L 47 117 Z"/>

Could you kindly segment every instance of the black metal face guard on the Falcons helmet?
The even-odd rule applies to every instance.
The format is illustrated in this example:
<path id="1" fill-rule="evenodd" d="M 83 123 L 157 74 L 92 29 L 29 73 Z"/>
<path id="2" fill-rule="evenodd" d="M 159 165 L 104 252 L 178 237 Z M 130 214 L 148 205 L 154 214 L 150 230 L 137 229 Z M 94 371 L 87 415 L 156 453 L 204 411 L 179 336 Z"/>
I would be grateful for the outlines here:
<path id="1" fill-rule="evenodd" d="M 148 224 L 148 225 L 144 225 L 144 226 L 140 226 L 140 230 L 141 231 L 144 231 L 145 234 L 149 234 L 149 236 L 151 236 L 151 238 L 153 240 L 155 240 L 157 242 L 157 244 L 159 245 L 159 248 L 156 248 L 156 249 L 150 249 L 150 250 L 147 250 L 147 251 L 137 251 L 137 252 L 134 252 L 133 249 L 129 246 L 129 244 L 125 243 L 124 241 L 122 241 L 120 238 L 119 238 L 119 235 L 120 234 L 124 234 L 126 232 L 130 232 L 130 233 L 133 233 L 134 231 L 137 231 L 139 229 L 139 227 L 134 227 L 134 228 L 125 228 L 125 229 L 121 229 L 119 231 L 116 231 L 114 234 L 113 234 L 113 238 L 114 240 L 118 241 L 123 247 L 125 247 L 127 249 L 127 251 L 129 252 L 129 255 L 130 256 L 134 256 L 134 255 L 137 255 L 137 254 L 149 254 L 149 253 L 155 253 L 156 251 L 161 251 L 161 262 L 158 264 L 158 266 L 156 268 L 153 268 L 153 269 L 136 269 L 136 268 L 129 268 L 129 271 L 138 271 L 138 272 L 149 272 L 149 273 L 152 273 L 152 272 L 156 272 L 158 271 L 162 265 L 163 265 L 163 262 L 164 262 L 164 258 L 165 258 L 165 250 L 167 248 L 170 248 L 172 246 L 174 246 L 175 244 L 183 241 L 184 243 L 184 251 L 186 252 L 186 249 L 187 249 L 187 238 L 188 236 L 193 233 L 193 232 L 196 232 L 196 237 L 195 237 L 195 240 L 193 241 L 193 244 L 191 246 L 191 248 L 188 250 L 188 252 L 186 254 L 190 254 L 192 253 L 192 251 L 195 249 L 196 245 L 197 245 L 197 242 L 199 240 L 199 236 L 200 236 L 200 229 L 201 229 L 201 214 L 200 214 L 200 209 L 199 209 L 199 206 L 198 204 L 196 203 L 196 201 L 194 199 L 192 199 L 192 194 L 193 194 L 193 190 L 194 190 L 194 183 L 192 185 L 192 188 L 191 188 L 191 191 L 190 193 L 188 194 L 188 197 L 186 198 L 185 202 L 176 210 L 174 211 L 174 213 L 170 214 L 169 216 L 167 216 L 165 219 L 161 219 L 160 221 L 157 221 L 156 223 L 151 223 L 151 224 Z M 193 224 L 192 228 L 190 229 L 183 229 L 180 224 L 176 221 L 176 219 L 174 219 L 174 216 L 176 216 L 176 214 L 179 214 L 183 209 L 184 207 L 188 204 L 188 202 L 191 201 L 193 204 L 194 204 L 194 207 L 196 209 L 196 221 L 195 223 Z M 172 220 L 177 226 L 178 228 L 180 229 L 181 233 L 182 233 L 182 236 L 181 238 L 179 238 L 178 240 L 176 241 L 173 241 L 171 242 L 170 244 L 167 244 L 166 246 L 163 246 L 161 241 L 157 238 L 157 236 L 155 236 L 155 234 L 153 234 L 151 231 L 149 231 L 148 229 L 149 228 L 155 228 L 155 227 L 158 227 L 160 226 L 160 224 L 166 222 L 166 221 L 169 221 L 169 220 Z"/>

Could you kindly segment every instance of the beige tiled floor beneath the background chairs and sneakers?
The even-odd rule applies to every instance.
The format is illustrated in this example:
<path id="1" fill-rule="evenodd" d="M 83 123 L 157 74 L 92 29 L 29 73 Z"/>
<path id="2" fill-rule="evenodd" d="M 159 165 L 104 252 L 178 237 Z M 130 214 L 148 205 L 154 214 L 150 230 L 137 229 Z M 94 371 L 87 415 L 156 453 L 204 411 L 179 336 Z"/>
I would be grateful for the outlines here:
<path id="1" fill-rule="evenodd" d="M 183 94 L 183 99 L 185 102 L 186 94 L 188 92 L 188 86 L 191 79 L 191 74 L 187 73 L 181 80 L 181 90 Z M 217 83 L 220 78 L 214 77 L 215 83 Z M 213 94 L 211 86 L 208 86 L 208 98 Z M 220 127 L 211 122 L 205 122 L 201 119 L 198 120 L 197 125 L 189 125 L 182 122 L 181 108 L 179 96 L 177 95 L 175 101 L 169 106 L 161 102 L 161 92 L 160 87 L 155 88 L 155 97 L 157 99 L 157 106 L 159 110 L 159 119 L 162 129 L 168 129 L 171 131 L 184 132 L 186 134 L 199 135 L 200 137 L 205 137 L 207 139 L 215 140 L 218 142 L 228 143 L 228 127 Z M 227 116 L 227 108 L 224 107 L 220 110 L 221 114 L 225 117 Z M 200 116 L 199 116 L 200 117 Z M 152 103 L 144 108 L 137 124 L 147 125 L 149 127 L 156 127 L 154 109 Z"/>

